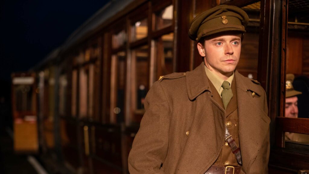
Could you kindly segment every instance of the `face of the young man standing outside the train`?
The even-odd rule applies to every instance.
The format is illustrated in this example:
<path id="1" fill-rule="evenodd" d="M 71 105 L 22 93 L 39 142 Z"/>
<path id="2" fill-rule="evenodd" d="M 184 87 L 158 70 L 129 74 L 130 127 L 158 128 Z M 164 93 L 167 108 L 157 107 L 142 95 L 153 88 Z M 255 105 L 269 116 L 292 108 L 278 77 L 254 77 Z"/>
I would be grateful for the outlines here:
<path id="1" fill-rule="evenodd" d="M 205 39 L 204 46 L 198 43 L 197 48 L 206 67 L 218 76 L 231 76 L 235 70 L 241 51 L 241 34 L 225 32 L 214 34 Z"/>

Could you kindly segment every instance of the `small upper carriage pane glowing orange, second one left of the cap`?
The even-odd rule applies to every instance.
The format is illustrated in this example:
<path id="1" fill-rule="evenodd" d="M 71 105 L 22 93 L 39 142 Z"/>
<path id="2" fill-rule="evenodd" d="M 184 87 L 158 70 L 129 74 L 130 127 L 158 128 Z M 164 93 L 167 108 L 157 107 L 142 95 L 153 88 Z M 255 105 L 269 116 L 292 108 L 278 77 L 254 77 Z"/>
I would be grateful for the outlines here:
<path id="1" fill-rule="evenodd" d="M 135 22 L 131 26 L 131 41 L 136 41 L 142 38 L 147 37 L 148 34 L 148 22 L 147 18 Z"/>

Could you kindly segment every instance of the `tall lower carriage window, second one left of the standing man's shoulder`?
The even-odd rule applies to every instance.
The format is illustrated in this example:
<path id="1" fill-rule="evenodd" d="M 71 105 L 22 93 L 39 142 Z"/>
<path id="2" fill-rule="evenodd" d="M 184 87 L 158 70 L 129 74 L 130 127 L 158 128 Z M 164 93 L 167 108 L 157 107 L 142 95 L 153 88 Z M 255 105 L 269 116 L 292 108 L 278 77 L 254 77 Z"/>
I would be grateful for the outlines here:
<path id="1" fill-rule="evenodd" d="M 148 46 L 141 46 L 132 51 L 132 84 L 134 111 L 133 122 L 140 122 L 144 113 L 144 100 L 149 89 L 149 55 Z"/>

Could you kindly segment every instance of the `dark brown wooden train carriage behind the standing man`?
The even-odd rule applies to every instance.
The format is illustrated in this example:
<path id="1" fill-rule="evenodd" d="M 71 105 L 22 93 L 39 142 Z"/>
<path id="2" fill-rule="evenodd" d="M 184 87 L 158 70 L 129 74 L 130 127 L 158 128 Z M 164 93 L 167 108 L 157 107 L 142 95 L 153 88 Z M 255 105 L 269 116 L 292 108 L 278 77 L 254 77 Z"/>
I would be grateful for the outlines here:
<path id="1" fill-rule="evenodd" d="M 109 2 L 32 69 L 40 88 L 42 154 L 73 173 L 129 173 L 148 90 L 160 76 L 202 62 L 188 37 L 190 22 L 220 4 L 249 16 L 237 70 L 258 80 L 267 94 L 269 173 L 308 171 L 308 142 L 285 140 L 285 132 L 309 134 L 308 112 L 284 116 L 286 74 L 309 77 L 307 0 Z"/>

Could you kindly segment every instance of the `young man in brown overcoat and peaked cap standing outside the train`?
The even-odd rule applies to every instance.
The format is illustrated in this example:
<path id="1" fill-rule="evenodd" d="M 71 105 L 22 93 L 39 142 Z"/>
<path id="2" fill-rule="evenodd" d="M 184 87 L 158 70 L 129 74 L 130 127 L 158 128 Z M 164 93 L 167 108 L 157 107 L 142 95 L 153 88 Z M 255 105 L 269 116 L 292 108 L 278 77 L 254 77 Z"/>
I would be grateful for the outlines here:
<path id="1" fill-rule="evenodd" d="M 268 173 L 269 122 L 264 89 L 235 67 L 248 15 L 221 5 L 191 23 L 204 62 L 160 78 L 129 154 L 129 171 L 157 174 Z"/>

